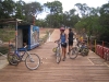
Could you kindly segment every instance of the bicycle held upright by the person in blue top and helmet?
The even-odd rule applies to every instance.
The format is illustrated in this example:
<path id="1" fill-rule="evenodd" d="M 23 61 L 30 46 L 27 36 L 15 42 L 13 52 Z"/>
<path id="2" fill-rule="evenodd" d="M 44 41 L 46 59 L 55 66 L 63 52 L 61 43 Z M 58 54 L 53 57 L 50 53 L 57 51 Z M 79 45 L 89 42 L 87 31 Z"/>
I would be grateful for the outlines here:
<path id="1" fill-rule="evenodd" d="M 57 43 L 58 46 L 55 47 L 52 50 L 56 54 L 56 61 L 57 61 L 57 63 L 59 63 L 61 61 L 61 49 L 60 49 L 61 43 L 59 40 L 57 40 L 55 43 Z"/>

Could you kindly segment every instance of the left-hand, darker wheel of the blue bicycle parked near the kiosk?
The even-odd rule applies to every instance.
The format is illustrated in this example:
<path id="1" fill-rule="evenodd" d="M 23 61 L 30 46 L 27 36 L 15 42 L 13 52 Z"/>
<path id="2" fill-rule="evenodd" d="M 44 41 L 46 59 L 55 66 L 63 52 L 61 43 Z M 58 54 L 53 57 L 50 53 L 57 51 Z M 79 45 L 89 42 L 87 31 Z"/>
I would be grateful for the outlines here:
<path id="1" fill-rule="evenodd" d="M 17 66 L 19 65 L 19 58 L 16 55 L 14 55 L 13 52 L 9 52 L 8 54 L 8 61 L 10 65 L 12 66 Z"/>

